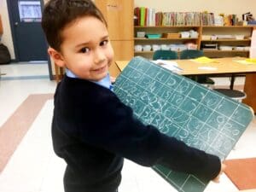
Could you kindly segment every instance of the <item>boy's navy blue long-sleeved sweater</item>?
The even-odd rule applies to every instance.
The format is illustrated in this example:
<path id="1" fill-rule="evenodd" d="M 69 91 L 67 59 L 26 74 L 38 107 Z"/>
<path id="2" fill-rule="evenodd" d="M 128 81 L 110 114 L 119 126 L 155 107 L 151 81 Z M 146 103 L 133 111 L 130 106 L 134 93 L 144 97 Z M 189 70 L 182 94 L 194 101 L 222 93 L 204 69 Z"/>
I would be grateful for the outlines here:
<path id="1" fill-rule="evenodd" d="M 220 171 L 218 157 L 143 125 L 111 90 L 83 79 L 65 76 L 58 84 L 52 139 L 55 154 L 67 162 L 66 192 L 113 192 L 123 158 L 207 180 Z"/>

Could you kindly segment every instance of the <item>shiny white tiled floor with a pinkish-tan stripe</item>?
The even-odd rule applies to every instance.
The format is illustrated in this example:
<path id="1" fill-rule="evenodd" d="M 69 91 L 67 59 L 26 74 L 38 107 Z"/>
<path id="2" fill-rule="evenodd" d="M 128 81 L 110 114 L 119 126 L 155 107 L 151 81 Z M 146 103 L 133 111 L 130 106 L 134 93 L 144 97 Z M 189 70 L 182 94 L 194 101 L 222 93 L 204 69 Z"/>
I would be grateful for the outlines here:
<path id="1" fill-rule="evenodd" d="M 0 66 L 0 69 L 1 73 L 6 73 L 0 79 L 0 191 L 63 192 L 65 163 L 55 156 L 51 145 L 55 82 L 49 81 L 47 65 L 23 63 Z M 215 82 L 218 85 L 228 83 L 226 79 L 215 79 Z M 236 83 L 242 84 L 243 79 Z M 16 127 L 19 130 L 14 129 Z M 255 137 L 254 118 L 228 158 L 256 157 Z M 125 160 L 119 191 L 176 190 L 150 168 Z M 205 191 L 235 192 L 237 189 L 223 175 L 220 183 L 210 183 Z"/>

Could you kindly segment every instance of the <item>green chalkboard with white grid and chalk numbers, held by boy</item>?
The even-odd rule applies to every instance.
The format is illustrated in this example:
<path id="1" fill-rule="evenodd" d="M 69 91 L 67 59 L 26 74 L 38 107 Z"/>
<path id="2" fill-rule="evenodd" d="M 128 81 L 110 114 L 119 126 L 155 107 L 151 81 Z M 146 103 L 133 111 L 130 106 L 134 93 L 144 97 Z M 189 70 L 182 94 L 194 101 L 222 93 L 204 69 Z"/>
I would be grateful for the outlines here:
<path id="1" fill-rule="evenodd" d="M 222 160 L 253 119 L 243 103 L 139 56 L 116 79 L 114 92 L 144 124 Z M 201 192 L 207 186 L 194 175 L 164 166 L 153 169 L 178 191 Z"/>

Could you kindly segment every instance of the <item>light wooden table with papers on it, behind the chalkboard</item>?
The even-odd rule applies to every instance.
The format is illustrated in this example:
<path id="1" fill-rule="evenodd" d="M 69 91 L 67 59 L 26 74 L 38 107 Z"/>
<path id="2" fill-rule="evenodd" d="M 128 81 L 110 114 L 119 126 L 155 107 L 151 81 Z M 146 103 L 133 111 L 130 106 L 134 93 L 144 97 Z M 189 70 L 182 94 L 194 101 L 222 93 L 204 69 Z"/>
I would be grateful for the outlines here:
<path id="1" fill-rule="evenodd" d="M 244 60 L 241 57 L 226 57 L 214 59 L 216 62 L 210 62 L 207 64 L 196 63 L 190 60 L 173 60 L 176 61 L 178 67 L 183 71 L 179 72 L 181 75 L 211 75 L 211 76 L 223 76 L 223 75 L 235 75 L 246 74 L 246 81 L 244 85 L 244 91 L 247 93 L 247 98 L 243 100 L 244 103 L 251 106 L 256 112 L 256 65 L 241 64 L 237 61 Z M 125 68 L 129 61 L 115 61 L 120 72 Z M 208 67 L 208 69 L 201 69 Z M 210 70 L 212 67 L 212 70 Z"/>

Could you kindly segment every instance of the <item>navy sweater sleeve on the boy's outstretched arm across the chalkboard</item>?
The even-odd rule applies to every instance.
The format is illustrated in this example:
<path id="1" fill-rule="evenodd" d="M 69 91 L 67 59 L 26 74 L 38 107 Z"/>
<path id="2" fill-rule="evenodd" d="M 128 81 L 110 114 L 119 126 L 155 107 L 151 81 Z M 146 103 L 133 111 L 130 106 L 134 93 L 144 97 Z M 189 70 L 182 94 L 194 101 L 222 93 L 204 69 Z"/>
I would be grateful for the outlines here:
<path id="1" fill-rule="evenodd" d="M 220 160 L 217 156 L 191 148 L 160 133 L 152 125 L 143 125 L 134 118 L 131 108 L 115 96 L 101 96 L 94 108 L 84 118 L 86 122 L 79 125 L 84 143 L 104 148 L 142 166 L 160 164 L 207 180 L 218 175 Z"/>

